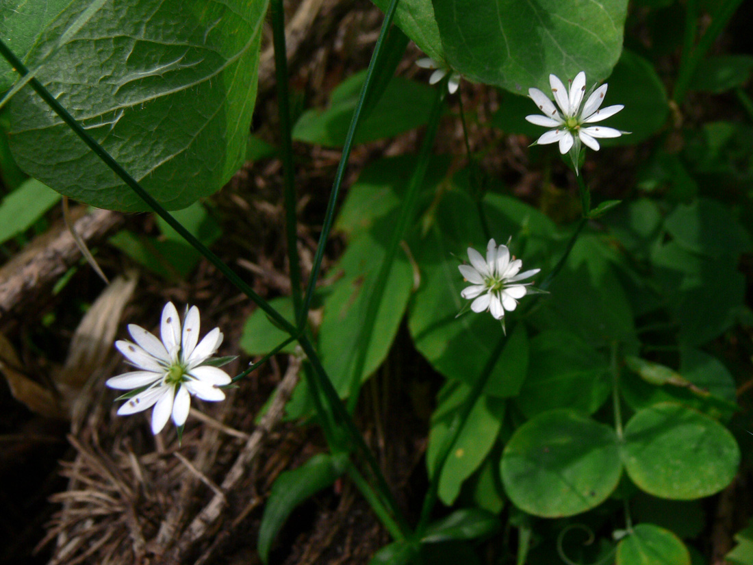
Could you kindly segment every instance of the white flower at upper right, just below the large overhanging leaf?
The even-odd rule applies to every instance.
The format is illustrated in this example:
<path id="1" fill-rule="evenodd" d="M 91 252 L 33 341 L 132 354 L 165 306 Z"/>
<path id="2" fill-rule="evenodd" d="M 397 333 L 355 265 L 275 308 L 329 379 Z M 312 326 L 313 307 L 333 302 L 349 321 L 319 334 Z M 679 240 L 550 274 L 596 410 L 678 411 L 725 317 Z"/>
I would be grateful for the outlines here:
<path id="1" fill-rule="evenodd" d="M 607 93 L 607 85 L 602 84 L 593 91 L 588 97 L 585 104 L 582 104 L 586 90 L 586 73 L 581 71 L 575 76 L 575 80 L 570 85 L 568 91 L 562 81 L 554 75 L 549 75 L 549 84 L 552 87 L 554 99 L 559 106 L 559 110 L 553 105 L 552 101 L 546 94 L 538 88 L 530 88 L 529 95 L 536 102 L 538 109 L 544 112 L 544 115 L 526 116 L 526 120 L 537 126 L 553 127 L 553 130 L 547 131 L 538 138 L 537 143 L 541 145 L 547 143 L 559 142 L 559 152 L 563 155 L 575 146 L 576 152 L 580 150 L 580 142 L 592 148 L 594 151 L 599 150 L 597 137 L 619 137 L 623 133 L 615 130 L 613 127 L 588 126 L 584 124 L 594 124 L 617 114 L 623 105 L 617 104 L 607 106 L 599 110 L 599 106 L 604 101 Z M 582 104 L 582 105 L 581 105 Z"/>

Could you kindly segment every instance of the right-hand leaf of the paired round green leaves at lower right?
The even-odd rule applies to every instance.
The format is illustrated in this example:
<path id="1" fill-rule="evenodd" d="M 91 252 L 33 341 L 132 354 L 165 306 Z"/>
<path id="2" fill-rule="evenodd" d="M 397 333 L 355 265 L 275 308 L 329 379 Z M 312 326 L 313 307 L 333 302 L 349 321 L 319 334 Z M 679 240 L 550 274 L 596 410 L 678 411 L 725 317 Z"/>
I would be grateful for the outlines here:
<path id="1" fill-rule="evenodd" d="M 739 447 L 724 426 L 700 412 L 669 402 L 645 408 L 625 426 L 627 474 L 661 498 L 709 496 L 730 484 Z"/>

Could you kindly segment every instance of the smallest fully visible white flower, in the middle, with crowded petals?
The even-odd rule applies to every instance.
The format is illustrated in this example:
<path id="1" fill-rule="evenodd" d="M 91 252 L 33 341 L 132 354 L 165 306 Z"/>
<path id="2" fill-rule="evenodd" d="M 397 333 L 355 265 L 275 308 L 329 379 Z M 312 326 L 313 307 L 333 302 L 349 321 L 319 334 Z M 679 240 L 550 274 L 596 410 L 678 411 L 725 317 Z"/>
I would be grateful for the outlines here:
<path id="1" fill-rule="evenodd" d="M 494 240 L 489 240 L 489 245 L 486 246 L 486 261 L 472 247 L 468 248 L 468 259 L 471 261 L 470 265 L 460 265 L 458 268 L 462 276 L 471 282 L 471 286 L 463 289 L 460 295 L 468 300 L 475 298 L 471 303 L 471 310 L 489 310 L 496 319 L 502 319 L 505 310 L 515 310 L 520 298 L 526 295 L 526 286 L 532 284 L 521 284 L 518 281 L 534 276 L 541 270 L 532 269 L 520 273 L 523 261 L 511 258 L 508 246 L 497 246 Z"/>

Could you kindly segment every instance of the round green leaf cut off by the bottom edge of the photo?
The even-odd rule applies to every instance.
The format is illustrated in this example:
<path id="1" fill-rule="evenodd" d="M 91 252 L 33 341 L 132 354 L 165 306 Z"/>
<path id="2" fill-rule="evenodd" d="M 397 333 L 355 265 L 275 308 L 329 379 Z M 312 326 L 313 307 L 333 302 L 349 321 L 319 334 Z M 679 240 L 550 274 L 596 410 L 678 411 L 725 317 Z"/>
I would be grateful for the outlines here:
<path id="1" fill-rule="evenodd" d="M 691 554 L 669 530 L 638 524 L 617 544 L 617 565 L 691 565 Z"/>

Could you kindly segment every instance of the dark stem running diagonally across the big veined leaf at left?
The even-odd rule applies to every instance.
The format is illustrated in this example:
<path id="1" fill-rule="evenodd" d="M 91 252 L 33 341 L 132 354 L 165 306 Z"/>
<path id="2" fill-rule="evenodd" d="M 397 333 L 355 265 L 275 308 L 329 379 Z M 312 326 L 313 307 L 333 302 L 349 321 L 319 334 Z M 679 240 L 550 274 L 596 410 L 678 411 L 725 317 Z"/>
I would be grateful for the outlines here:
<path id="1" fill-rule="evenodd" d="M 26 66 L 21 63 L 18 57 L 13 53 L 13 51 L 8 48 L 8 46 L 5 45 L 5 42 L 2 40 L 0 40 L 0 54 L 5 57 L 5 60 L 7 60 L 8 63 L 11 63 L 11 66 L 13 66 L 21 76 L 26 76 L 28 74 L 29 71 L 28 69 L 26 69 Z M 139 185 L 139 182 L 137 182 L 136 179 L 133 179 L 133 177 L 130 176 L 130 174 L 128 174 L 122 166 L 120 166 L 120 163 L 117 163 L 117 161 L 114 160 L 110 156 L 110 154 L 105 151 L 104 148 L 102 148 L 102 145 L 99 145 L 99 143 L 96 142 L 96 140 L 92 136 L 90 136 L 89 133 L 87 133 L 87 131 L 84 130 L 84 128 L 81 127 L 80 124 L 78 124 L 78 121 L 76 121 L 76 119 L 68 113 L 66 108 L 62 107 L 62 105 L 36 78 L 32 78 L 29 81 L 29 84 L 41 97 L 41 99 L 43 99 L 44 102 L 47 102 L 47 105 L 49 105 L 50 108 L 52 108 L 53 111 L 57 115 L 59 115 L 62 121 L 66 122 L 66 124 L 69 125 L 69 127 L 76 133 L 76 135 L 78 135 L 84 141 L 84 143 L 86 143 L 89 148 L 94 151 L 97 157 L 99 157 L 105 163 L 105 165 L 110 167 L 110 169 L 113 170 L 113 172 L 117 176 L 119 176 L 120 179 L 123 179 L 123 182 L 125 182 L 136 194 L 138 194 L 139 197 L 141 197 L 141 199 L 144 200 L 145 203 L 147 203 L 148 206 L 150 206 L 151 209 L 154 210 L 154 212 L 157 212 L 157 214 L 159 214 L 160 217 L 162 217 L 170 225 L 170 227 L 177 231 L 178 234 L 180 234 L 181 237 L 184 238 L 184 240 L 190 243 L 191 246 L 194 246 L 194 248 L 197 249 L 198 252 L 200 252 L 212 264 L 214 264 L 215 267 L 217 267 L 218 270 L 220 270 L 220 272 L 224 274 L 224 276 L 227 276 L 227 279 L 229 279 L 230 282 L 233 283 L 233 285 L 238 287 L 238 289 L 240 289 L 245 295 L 247 295 L 248 298 L 251 298 L 252 301 L 258 304 L 258 306 L 262 310 L 264 310 L 264 312 L 266 312 L 270 317 L 272 317 L 285 331 L 288 332 L 288 334 L 297 334 L 297 328 L 295 328 L 294 325 L 288 322 L 288 320 L 286 320 L 280 313 L 278 313 L 277 310 L 271 307 L 267 303 L 267 301 L 264 300 L 264 298 L 261 298 L 261 296 L 256 294 L 254 290 L 235 273 L 235 271 L 230 269 L 227 264 L 224 264 L 224 262 L 217 255 L 215 255 L 212 251 L 209 250 L 207 246 L 205 246 L 203 243 L 197 240 L 196 237 L 189 233 L 178 220 L 173 218 L 172 215 L 170 215 L 170 213 L 167 212 L 167 210 L 164 209 L 159 202 L 157 202 L 157 200 L 154 200 L 154 197 L 152 197 L 151 194 L 145 191 L 145 189 L 142 188 L 142 185 Z"/>

